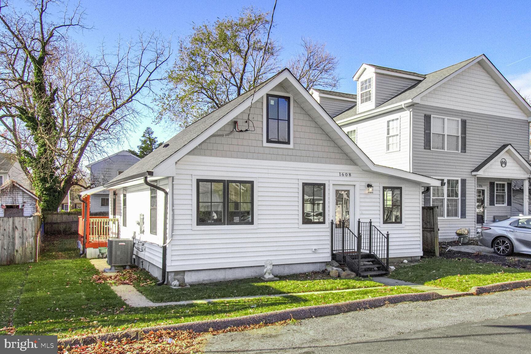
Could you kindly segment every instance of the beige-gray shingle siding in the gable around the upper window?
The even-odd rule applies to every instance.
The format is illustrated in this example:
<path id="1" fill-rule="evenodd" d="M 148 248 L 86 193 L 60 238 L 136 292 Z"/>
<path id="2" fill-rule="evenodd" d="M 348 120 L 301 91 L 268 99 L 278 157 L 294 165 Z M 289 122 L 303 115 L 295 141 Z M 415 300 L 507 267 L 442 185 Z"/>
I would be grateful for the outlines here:
<path id="1" fill-rule="evenodd" d="M 281 85 L 273 91 L 287 92 Z M 229 136 L 211 136 L 194 150 L 192 155 L 217 156 L 229 158 L 247 158 L 258 160 L 277 160 L 293 162 L 336 163 L 354 165 L 354 162 L 330 139 L 313 118 L 294 102 L 293 149 L 263 146 L 262 142 L 262 99 L 253 103 L 250 118 L 254 131 L 232 133 Z M 247 126 L 245 120 L 249 110 L 237 116 L 240 128 Z M 233 130 L 230 122 L 219 129 L 216 134 L 227 134 Z M 251 129 L 252 129 L 251 125 Z"/>

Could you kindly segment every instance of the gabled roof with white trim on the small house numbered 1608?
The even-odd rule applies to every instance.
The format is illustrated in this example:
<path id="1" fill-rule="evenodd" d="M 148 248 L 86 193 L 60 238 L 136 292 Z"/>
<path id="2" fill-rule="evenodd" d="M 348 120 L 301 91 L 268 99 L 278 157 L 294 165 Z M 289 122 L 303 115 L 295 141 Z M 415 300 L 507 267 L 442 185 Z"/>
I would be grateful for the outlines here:
<path id="1" fill-rule="evenodd" d="M 294 99 L 303 106 L 303 109 L 305 109 L 308 114 L 313 115 L 315 122 L 321 126 L 323 131 L 328 134 L 331 139 L 336 142 L 339 148 L 343 150 L 361 169 L 376 174 L 402 178 L 427 186 L 441 184 L 438 179 L 413 174 L 404 170 L 375 165 L 371 159 L 369 159 L 369 157 L 367 157 L 366 154 L 359 149 L 352 140 L 350 140 L 347 133 L 345 133 L 333 121 L 312 95 L 304 89 L 303 85 L 297 81 L 295 76 L 285 68 L 260 84 L 255 90 L 245 92 L 204 118 L 187 126 L 183 131 L 172 137 L 172 139 L 168 140 L 147 157 L 135 163 L 135 165 L 123 172 L 123 174 L 115 177 L 107 183 L 105 187 L 110 188 L 123 185 L 130 183 L 132 180 L 139 180 L 143 177 L 160 176 L 160 174 L 153 173 L 153 170 L 157 172 L 156 169 L 158 169 L 158 171 L 170 170 L 167 169 L 169 167 L 172 167 L 173 169 L 174 163 L 184 157 L 186 153 L 207 140 L 212 134 L 216 133 L 238 114 L 242 113 L 253 102 L 261 99 L 265 93 L 269 92 L 279 83 L 282 83 L 288 91 L 291 90 L 294 94 Z M 166 146 L 166 148 L 164 146 Z M 170 157 L 172 157 L 171 160 L 169 159 Z"/>

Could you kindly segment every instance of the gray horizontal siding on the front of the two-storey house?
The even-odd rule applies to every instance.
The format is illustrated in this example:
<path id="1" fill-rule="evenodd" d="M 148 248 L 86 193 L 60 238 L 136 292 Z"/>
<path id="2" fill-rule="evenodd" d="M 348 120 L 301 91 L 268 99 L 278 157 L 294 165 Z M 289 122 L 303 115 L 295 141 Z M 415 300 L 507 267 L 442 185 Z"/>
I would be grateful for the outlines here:
<path id="1" fill-rule="evenodd" d="M 425 114 L 466 119 L 466 153 L 425 150 Z M 520 154 L 528 159 L 527 121 L 425 105 L 415 106 L 413 108 L 413 117 L 413 172 L 430 177 L 455 177 L 466 178 L 467 180 L 467 218 L 439 219 L 439 237 L 455 237 L 454 232 L 460 227 L 474 229 L 476 222 L 476 178 L 472 176 L 471 171 L 496 149 L 506 143 L 511 143 Z M 487 217 L 489 217 L 488 213 Z M 510 213 L 510 210 L 508 213 Z M 496 213 L 496 215 L 498 214 Z"/>

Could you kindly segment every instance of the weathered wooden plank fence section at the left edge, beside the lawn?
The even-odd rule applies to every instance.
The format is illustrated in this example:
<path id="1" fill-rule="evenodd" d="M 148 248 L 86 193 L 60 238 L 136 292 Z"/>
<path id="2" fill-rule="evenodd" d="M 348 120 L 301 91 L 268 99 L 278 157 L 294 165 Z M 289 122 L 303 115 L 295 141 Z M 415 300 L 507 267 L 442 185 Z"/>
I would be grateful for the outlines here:
<path id="1" fill-rule="evenodd" d="M 37 262 L 41 226 L 39 215 L 0 218 L 0 265 Z"/>

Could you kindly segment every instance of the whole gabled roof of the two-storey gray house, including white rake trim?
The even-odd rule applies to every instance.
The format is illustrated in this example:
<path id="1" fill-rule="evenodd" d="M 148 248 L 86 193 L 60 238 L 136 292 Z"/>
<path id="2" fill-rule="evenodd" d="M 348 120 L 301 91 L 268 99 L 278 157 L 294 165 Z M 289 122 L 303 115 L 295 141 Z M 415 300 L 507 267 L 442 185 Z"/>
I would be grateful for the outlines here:
<path id="1" fill-rule="evenodd" d="M 419 99 L 426 93 L 430 92 L 442 83 L 451 79 L 453 76 L 478 62 L 481 62 L 485 71 L 487 71 L 487 73 L 493 77 L 494 81 L 500 85 L 503 91 L 508 94 L 508 96 L 518 105 L 518 107 L 523 110 L 528 117 L 531 117 L 531 106 L 529 106 L 529 103 L 527 103 L 527 101 L 522 98 L 515 88 L 513 88 L 512 85 L 507 81 L 507 79 L 503 77 L 498 69 L 491 63 L 489 58 L 487 58 L 484 54 L 481 54 L 467 59 L 466 61 L 453 64 L 430 74 L 426 74 L 425 79 L 398 93 L 395 97 L 383 102 L 380 106 L 359 114 L 356 114 L 356 110 L 351 109 L 341 113 L 340 115 L 337 115 L 335 120 L 336 122 L 340 123 L 352 119 L 363 119 L 365 116 L 370 116 L 371 114 L 376 114 L 380 111 L 385 111 L 386 109 L 394 109 L 395 107 L 398 108 L 402 103 L 418 103 Z"/>

